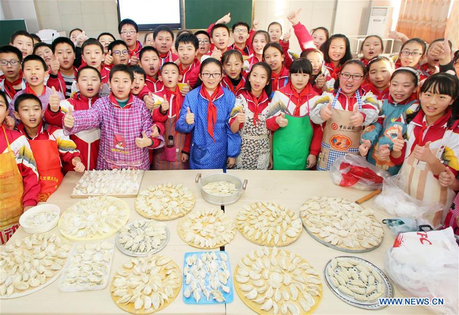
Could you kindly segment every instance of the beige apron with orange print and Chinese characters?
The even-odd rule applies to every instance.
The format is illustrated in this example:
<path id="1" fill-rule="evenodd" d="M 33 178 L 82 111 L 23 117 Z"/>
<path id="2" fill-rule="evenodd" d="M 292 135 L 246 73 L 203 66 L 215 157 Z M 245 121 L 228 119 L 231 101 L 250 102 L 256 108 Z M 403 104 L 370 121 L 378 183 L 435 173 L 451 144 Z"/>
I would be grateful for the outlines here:
<path id="1" fill-rule="evenodd" d="M 357 154 L 362 126 L 351 125 L 353 112 L 332 109 L 333 115 L 325 124 L 317 170 L 328 171 L 333 162 L 347 153 Z"/>

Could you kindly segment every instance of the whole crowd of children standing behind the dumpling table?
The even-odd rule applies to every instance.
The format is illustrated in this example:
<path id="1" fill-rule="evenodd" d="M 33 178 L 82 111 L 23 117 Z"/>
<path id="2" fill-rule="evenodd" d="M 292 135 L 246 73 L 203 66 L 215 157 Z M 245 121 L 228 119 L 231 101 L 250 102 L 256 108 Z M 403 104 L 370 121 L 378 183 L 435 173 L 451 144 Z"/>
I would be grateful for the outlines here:
<path id="1" fill-rule="evenodd" d="M 161 25 L 143 42 L 131 19 L 120 39 L 77 28 L 50 45 L 15 32 L 0 47 L 0 241 L 72 170 L 329 170 L 351 153 L 448 206 L 459 186 L 459 52 L 391 32 L 398 56 L 371 35 L 355 59 L 346 35 L 309 33 L 299 12 L 287 15 L 299 58 L 291 30 L 229 29 L 230 14 L 196 33 Z"/>

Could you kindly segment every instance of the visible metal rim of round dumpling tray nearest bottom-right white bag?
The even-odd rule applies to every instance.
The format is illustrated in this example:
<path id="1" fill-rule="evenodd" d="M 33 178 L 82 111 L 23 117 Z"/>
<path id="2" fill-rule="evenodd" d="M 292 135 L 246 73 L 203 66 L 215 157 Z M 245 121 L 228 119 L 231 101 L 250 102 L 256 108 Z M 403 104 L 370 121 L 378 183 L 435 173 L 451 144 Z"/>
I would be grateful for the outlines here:
<path id="1" fill-rule="evenodd" d="M 382 304 L 379 304 L 379 299 L 382 299 L 382 298 L 393 298 L 394 297 L 394 287 L 392 286 L 392 283 L 391 281 L 389 280 L 389 278 L 378 268 L 376 267 L 375 265 L 373 265 L 372 263 L 370 263 L 369 261 L 365 260 L 365 259 L 362 259 L 362 258 L 358 258 L 358 257 L 353 257 L 353 256 L 338 256 L 338 257 L 335 257 L 335 258 L 340 258 L 340 257 L 343 257 L 343 258 L 351 258 L 351 259 L 355 259 L 355 260 L 359 260 L 361 261 L 362 264 L 364 264 L 366 267 L 368 268 L 371 268 L 373 269 L 374 271 L 376 271 L 379 276 L 381 277 L 382 279 L 382 284 L 384 285 L 384 294 L 379 297 L 378 299 L 374 300 L 374 301 L 358 301 L 344 293 L 342 293 L 340 290 L 338 290 L 331 282 L 330 282 L 330 278 L 328 277 L 328 273 L 327 273 L 327 267 L 330 266 L 331 264 L 331 259 L 328 261 L 328 263 L 325 265 L 325 268 L 324 268 L 324 278 L 325 278 L 325 282 L 327 283 L 328 287 L 330 288 L 331 292 L 333 292 L 334 295 L 336 295 L 337 297 L 339 297 L 341 300 L 343 300 L 344 302 L 350 304 L 350 305 L 353 305 L 353 306 L 356 306 L 356 307 L 359 307 L 359 308 L 365 308 L 365 309 L 381 309 L 381 308 L 384 308 L 386 307 L 387 305 L 382 305 Z"/>

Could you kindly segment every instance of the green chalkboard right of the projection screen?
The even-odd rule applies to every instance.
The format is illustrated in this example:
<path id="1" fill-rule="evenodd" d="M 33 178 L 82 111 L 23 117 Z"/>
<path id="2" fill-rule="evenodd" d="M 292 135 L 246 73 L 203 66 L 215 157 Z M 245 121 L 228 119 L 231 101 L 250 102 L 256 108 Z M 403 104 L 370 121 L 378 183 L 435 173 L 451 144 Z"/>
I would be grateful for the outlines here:
<path id="1" fill-rule="evenodd" d="M 209 25 L 231 12 L 230 29 L 235 22 L 252 26 L 252 0 L 185 0 L 185 28 L 207 29 Z"/>

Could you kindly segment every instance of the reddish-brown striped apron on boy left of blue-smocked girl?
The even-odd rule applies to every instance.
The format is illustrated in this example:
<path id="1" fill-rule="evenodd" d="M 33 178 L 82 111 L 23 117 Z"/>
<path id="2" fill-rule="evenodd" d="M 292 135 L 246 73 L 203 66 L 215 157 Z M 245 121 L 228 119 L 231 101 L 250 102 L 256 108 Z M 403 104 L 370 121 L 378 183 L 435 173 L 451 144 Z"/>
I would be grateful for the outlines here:
<path id="1" fill-rule="evenodd" d="M 172 101 L 171 101 L 172 102 Z M 175 121 L 177 115 L 168 116 L 165 123 L 164 141 L 167 143 L 169 136 L 174 136 L 174 147 L 167 148 L 165 145 L 159 149 L 155 149 L 153 153 L 153 169 L 154 170 L 187 170 L 189 168 L 188 161 L 182 163 L 182 152 L 180 148 L 185 145 L 186 134 L 176 132 Z M 164 150 L 175 150 L 175 161 L 167 161 L 164 157 Z"/>

